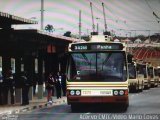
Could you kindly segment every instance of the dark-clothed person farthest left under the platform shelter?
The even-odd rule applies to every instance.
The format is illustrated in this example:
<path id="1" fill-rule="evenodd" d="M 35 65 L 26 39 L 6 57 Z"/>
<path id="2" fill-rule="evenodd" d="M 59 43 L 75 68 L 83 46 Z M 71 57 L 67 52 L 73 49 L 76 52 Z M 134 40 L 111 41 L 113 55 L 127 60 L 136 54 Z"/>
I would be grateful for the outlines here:
<path id="1" fill-rule="evenodd" d="M 11 69 L 6 71 L 6 74 L 5 74 L 5 77 L 4 77 L 4 85 L 5 85 L 6 97 L 8 98 L 8 92 L 10 91 L 11 104 L 14 104 L 15 80 L 13 78 L 13 74 L 12 74 Z"/>

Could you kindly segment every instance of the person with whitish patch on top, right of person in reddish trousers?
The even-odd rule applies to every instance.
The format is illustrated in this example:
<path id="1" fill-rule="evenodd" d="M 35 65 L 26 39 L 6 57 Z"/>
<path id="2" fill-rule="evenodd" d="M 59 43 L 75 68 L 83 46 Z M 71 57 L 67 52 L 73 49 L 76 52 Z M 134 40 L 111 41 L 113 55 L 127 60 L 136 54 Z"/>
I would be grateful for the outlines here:
<path id="1" fill-rule="evenodd" d="M 58 74 L 55 77 L 55 86 L 56 86 L 56 95 L 57 95 L 57 99 L 61 98 L 61 74 L 60 72 L 58 72 Z"/>

